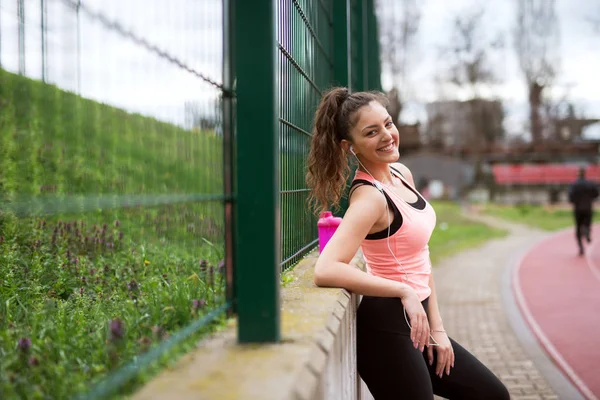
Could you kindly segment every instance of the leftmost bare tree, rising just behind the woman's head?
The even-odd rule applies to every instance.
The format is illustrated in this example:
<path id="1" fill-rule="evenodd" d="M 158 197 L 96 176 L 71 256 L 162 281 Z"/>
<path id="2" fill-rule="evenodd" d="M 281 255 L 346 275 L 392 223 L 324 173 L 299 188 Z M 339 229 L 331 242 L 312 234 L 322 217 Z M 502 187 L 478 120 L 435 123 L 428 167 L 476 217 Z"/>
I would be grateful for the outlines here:
<path id="1" fill-rule="evenodd" d="M 391 76 L 387 95 L 389 113 L 400 121 L 402 97 L 408 86 L 408 74 L 414 55 L 414 44 L 421 21 L 421 4 L 417 0 L 378 0 L 382 67 Z"/>

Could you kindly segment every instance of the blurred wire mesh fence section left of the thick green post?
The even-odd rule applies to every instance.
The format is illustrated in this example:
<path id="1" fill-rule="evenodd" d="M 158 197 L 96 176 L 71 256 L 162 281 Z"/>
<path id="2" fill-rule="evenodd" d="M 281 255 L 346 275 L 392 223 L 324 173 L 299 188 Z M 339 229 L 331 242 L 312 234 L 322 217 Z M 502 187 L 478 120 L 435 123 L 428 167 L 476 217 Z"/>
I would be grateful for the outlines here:
<path id="1" fill-rule="evenodd" d="M 126 393 L 232 309 L 224 4 L 0 2 L 1 398 Z"/>

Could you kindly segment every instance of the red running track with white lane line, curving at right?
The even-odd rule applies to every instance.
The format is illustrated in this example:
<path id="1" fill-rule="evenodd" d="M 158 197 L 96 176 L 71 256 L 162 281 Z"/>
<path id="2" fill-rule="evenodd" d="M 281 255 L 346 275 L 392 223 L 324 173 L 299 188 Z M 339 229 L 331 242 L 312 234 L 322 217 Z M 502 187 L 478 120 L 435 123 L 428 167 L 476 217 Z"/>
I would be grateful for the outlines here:
<path id="1" fill-rule="evenodd" d="M 513 290 L 548 356 L 590 400 L 600 398 L 600 226 L 585 257 L 573 229 L 534 246 L 517 265 Z"/>

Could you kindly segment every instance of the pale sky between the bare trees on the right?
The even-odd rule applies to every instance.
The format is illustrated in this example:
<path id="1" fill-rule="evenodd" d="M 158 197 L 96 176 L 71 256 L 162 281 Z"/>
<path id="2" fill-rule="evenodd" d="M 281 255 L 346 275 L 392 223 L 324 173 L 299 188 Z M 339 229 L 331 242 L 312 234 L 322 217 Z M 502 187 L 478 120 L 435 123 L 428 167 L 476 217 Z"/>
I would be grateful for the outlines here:
<path id="1" fill-rule="evenodd" d="M 423 105 L 439 98 L 435 84 L 436 70 L 440 69 L 437 49 L 450 43 L 453 17 L 483 5 L 483 33 L 487 39 L 499 34 L 505 43 L 502 52 L 493 58 L 500 84 L 493 87 L 490 94 L 502 99 L 505 105 L 507 133 L 521 133 L 529 111 L 526 86 L 513 46 L 516 0 L 419 2 L 422 19 L 416 38 L 416 54 L 410 64 L 412 68 L 409 68 L 409 103 L 402 118 L 406 122 L 426 119 Z M 398 7 L 401 2 L 394 3 Z M 600 19 L 600 0 L 556 0 L 556 12 L 560 24 L 560 68 L 549 94 L 555 99 L 568 96 L 583 115 L 600 118 L 600 31 L 596 32 L 588 22 L 591 16 Z M 382 83 L 384 89 L 390 87 L 389 76 L 384 75 Z M 448 95 L 461 99 L 460 93 Z"/>

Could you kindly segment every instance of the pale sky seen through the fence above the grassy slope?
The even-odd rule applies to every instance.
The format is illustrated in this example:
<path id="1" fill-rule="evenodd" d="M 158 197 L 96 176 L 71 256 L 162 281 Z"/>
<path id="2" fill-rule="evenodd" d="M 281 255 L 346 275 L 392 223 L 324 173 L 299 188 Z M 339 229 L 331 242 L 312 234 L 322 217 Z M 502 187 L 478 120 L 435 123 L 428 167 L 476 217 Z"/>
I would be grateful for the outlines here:
<path id="1" fill-rule="evenodd" d="M 26 75 L 41 79 L 40 0 L 24 1 Z M 106 29 L 83 11 L 77 57 L 77 17 L 66 3 L 46 0 L 47 82 L 86 98 L 181 125 L 185 124 L 186 102 L 206 104 L 207 99 L 218 96 L 218 89 L 192 72 Z M 85 0 L 84 4 L 168 51 L 193 72 L 222 82 L 220 0 Z M 17 72 L 17 0 L 0 2 L 0 40 L 3 68 Z"/>

